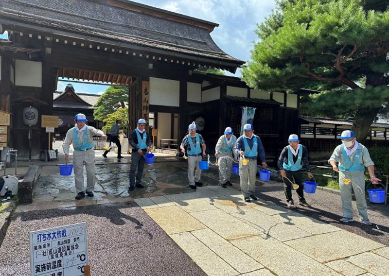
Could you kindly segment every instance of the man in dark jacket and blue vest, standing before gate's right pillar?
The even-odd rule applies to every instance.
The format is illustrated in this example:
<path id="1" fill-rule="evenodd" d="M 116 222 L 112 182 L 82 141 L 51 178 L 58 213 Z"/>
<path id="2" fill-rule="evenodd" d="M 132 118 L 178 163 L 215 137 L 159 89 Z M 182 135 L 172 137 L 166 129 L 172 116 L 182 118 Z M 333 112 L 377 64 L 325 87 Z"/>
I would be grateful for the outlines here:
<path id="1" fill-rule="evenodd" d="M 131 150 L 131 168 L 130 168 L 130 188 L 128 191 L 134 190 L 134 186 L 137 188 L 144 188 L 141 184 L 142 175 L 144 169 L 144 156 L 151 150 L 150 136 L 145 131 L 146 121 L 144 119 L 138 120 L 138 127 L 130 133 L 128 138 Z M 137 178 L 135 182 L 135 171 L 138 167 Z"/>

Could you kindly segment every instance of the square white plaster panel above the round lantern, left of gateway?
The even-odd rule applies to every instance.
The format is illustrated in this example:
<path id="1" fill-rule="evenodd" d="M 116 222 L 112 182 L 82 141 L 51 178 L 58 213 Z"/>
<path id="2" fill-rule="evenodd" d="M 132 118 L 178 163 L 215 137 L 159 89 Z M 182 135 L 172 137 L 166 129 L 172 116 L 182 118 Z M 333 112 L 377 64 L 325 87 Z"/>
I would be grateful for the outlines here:
<path id="1" fill-rule="evenodd" d="M 15 85 L 42 87 L 42 63 L 29 60 L 15 60 Z"/>

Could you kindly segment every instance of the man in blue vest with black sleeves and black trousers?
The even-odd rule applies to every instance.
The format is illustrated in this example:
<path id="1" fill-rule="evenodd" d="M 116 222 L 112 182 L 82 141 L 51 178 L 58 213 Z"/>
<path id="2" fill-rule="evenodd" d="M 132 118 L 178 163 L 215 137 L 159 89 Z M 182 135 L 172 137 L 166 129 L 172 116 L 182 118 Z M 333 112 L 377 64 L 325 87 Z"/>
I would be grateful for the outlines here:
<path id="1" fill-rule="evenodd" d="M 280 158 L 278 158 L 278 168 L 281 170 L 281 176 L 283 177 L 287 205 L 289 208 L 296 208 L 292 199 L 293 183 L 290 182 L 294 181 L 299 185 L 297 195 L 299 196 L 300 205 L 311 207 L 304 198 L 304 184 L 301 173 L 301 170 L 304 169 L 308 173 L 308 177 L 313 177 L 312 173 L 309 172 L 308 150 L 299 143 L 300 139 L 296 134 L 291 134 L 288 142 L 289 146 L 283 148 Z"/>

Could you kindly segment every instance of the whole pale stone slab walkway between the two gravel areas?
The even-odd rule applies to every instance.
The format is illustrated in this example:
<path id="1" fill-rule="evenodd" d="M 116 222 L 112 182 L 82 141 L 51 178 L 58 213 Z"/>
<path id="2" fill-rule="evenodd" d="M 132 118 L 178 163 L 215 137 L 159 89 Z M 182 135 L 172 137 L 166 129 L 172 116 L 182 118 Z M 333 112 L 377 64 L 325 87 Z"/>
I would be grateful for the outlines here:
<path id="1" fill-rule="evenodd" d="M 386 276 L 389 247 L 220 186 L 135 202 L 210 276 Z"/>

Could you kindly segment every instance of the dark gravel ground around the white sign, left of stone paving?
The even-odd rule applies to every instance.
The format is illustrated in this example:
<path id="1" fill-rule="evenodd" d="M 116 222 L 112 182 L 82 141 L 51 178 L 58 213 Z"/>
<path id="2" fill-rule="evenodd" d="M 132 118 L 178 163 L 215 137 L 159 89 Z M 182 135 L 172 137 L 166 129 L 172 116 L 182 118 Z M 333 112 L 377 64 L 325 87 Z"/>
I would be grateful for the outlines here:
<path id="1" fill-rule="evenodd" d="M 87 222 L 93 276 L 206 274 L 136 204 L 17 213 L 0 247 L 0 276 L 29 276 L 29 232 Z"/>

